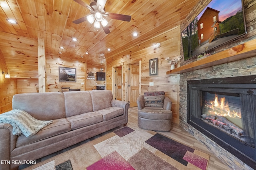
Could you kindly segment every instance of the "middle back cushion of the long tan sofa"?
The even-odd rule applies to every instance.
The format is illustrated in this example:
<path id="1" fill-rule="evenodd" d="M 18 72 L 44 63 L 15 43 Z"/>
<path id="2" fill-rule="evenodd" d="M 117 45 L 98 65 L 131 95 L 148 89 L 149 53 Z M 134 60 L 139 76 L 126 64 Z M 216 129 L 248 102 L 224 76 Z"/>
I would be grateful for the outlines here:
<path id="1" fill-rule="evenodd" d="M 92 98 L 88 91 L 64 92 L 66 117 L 92 111 Z"/>

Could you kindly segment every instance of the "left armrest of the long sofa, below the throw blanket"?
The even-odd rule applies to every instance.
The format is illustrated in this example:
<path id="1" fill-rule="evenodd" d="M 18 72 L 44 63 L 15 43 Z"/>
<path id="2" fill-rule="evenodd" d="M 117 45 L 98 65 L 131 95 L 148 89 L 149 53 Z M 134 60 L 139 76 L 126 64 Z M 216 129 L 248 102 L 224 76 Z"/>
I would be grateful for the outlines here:
<path id="1" fill-rule="evenodd" d="M 0 160 L 6 161 L 0 164 L 1 170 L 11 168 L 10 161 L 11 151 L 16 147 L 17 136 L 12 134 L 12 125 L 8 123 L 0 123 Z"/>

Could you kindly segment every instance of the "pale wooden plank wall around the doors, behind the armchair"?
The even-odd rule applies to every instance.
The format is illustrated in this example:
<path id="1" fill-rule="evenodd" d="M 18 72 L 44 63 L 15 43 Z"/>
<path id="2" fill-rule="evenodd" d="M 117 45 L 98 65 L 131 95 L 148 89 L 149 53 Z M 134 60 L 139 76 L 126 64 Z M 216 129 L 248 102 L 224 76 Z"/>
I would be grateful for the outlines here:
<path id="1" fill-rule="evenodd" d="M 155 48 L 158 42 L 161 46 Z M 128 95 L 126 65 L 141 60 L 141 94 L 147 91 L 163 90 L 173 103 L 173 122 L 178 123 L 179 75 L 166 75 L 166 71 L 170 70 L 170 65 L 165 60 L 166 57 L 175 58 L 178 55 L 180 55 L 180 27 L 175 27 L 116 56 L 107 57 L 107 89 L 112 90 L 112 67 L 123 64 L 123 99 L 125 99 Z M 149 76 L 149 60 L 155 58 L 158 58 L 158 75 Z M 149 86 L 149 82 L 154 82 L 154 86 Z"/>

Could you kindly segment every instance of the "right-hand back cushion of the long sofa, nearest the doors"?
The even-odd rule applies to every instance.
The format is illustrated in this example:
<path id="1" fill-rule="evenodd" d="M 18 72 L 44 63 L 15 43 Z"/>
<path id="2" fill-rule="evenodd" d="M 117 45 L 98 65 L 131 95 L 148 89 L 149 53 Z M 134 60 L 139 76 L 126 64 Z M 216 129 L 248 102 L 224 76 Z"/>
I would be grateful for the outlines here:
<path id="1" fill-rule="evenodd" d="M 92 96 L 93 111 L 111 107 L 113 94 L 110 90 L 92 90 L 90 94 Z"/>

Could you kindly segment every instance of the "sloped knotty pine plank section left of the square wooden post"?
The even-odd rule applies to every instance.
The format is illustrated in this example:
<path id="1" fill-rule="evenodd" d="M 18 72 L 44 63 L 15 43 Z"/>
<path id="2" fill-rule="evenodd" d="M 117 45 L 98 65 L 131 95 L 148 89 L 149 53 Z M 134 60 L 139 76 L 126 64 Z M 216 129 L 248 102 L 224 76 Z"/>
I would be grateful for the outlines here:
<path id="1" fill-rule="evenodd" d="M 12 78 L 38 78 L 36 39 L 0 31 L 0 49 Z"/>

